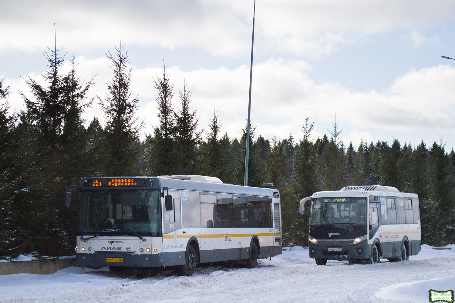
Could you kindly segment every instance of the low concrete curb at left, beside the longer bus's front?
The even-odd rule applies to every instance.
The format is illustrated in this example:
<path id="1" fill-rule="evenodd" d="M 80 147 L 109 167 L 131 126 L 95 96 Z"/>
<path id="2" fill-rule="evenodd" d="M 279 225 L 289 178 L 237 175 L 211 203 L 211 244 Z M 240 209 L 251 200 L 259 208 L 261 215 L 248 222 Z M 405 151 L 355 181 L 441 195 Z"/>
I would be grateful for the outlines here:
<path id="1" fill-rule="evenodd" d="M 0 262 L 0 275 L 13 273 L 51 274 L 70 266 L 76 266 L 76 258 Z"/>

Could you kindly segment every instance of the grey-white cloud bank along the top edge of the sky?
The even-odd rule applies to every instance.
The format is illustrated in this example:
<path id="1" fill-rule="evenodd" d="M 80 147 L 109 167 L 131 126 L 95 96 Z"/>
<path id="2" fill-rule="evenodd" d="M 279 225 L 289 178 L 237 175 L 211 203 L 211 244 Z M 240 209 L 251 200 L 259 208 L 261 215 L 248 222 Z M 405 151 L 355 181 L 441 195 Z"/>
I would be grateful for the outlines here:
<path id="1" fill-rule="evenodd" d="M 0 53 L 53 45 L 55 23 L 58 44 L 81 52 L 122 40 L 235 57 L 248 54 L 252 9 L 253 0 L 10 1 L 0 11 Z M 256 7 L 257 51 L 319 57 L 364 35 L 439 24 L 454 12 L 449 0 L 264 0 Z"/>

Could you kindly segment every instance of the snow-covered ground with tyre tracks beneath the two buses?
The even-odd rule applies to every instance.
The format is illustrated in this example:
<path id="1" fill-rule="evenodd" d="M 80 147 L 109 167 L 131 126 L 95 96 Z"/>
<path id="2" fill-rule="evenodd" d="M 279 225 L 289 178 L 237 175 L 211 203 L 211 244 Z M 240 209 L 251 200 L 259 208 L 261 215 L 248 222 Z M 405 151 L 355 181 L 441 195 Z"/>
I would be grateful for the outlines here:
<path id="1" fill-rule="evenodd" d="M 455 245 L 423 245 L 398 263 L 329 261 L 317 266 L 295 248 L 253 269 L 201 266 L 192 277 L 70 267 L 49 275 L 0 276 L 0 302 L 428 302 L 428 291 L 455 288 Z"/>

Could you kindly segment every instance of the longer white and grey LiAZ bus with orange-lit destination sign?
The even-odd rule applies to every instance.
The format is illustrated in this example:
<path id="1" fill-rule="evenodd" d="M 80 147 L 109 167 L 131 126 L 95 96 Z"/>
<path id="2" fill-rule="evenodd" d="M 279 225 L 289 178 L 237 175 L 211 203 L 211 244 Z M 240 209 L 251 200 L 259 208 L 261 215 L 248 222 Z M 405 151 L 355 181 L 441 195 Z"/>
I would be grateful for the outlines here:
<path id="1" fill-rule="evenodd" d="M 280 194 L 206 176 L 83 178 L 76 260 L 81 266 L 177 267 L 281 253 Z M 71 192 L 65 198 L 69 206 Z"/>

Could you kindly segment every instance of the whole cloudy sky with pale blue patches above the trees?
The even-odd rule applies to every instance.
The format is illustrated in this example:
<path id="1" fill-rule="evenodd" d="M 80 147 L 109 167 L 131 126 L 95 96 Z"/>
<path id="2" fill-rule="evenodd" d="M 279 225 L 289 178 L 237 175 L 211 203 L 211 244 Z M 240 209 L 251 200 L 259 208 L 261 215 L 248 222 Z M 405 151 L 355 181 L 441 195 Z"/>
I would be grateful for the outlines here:
<path id="1" fill-rule="evenodd" d="M 162 60 L 174 84 L 184 81 L 200 129 L 213 110 L 222 132 L 240 137 L 248 115 L 253 0 L 6 1 L 0 0 L 0 77 L 11 83 L 11 111 L 30 95 L 22 77 L 41 81 L 43 52 L 74 48 L 77 73 L 95 76 L 90 97 L 106 97 L 111 75 L 105 53 L 120 41 L 139 95 L 142 136 L 157 126 L 153 77 Z M 398 139 L 443 141 L 455 147 L 455 2 L 313 0 L 256 3 L 252 123 L 266 139 L 302 138 L 306 113 L 315 138 L 339 121 L 345 145 Z M 68 61 L 68 60 L 67 60 Z M 66 62 L 68 64 L 69 62 Z M 63 70 L 66 70 L 66 65 Z M 88 121 L 98 104 L 86 110 Z"/>

